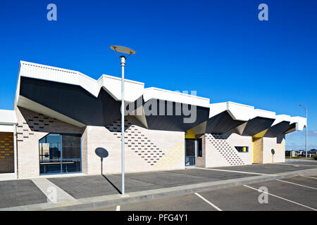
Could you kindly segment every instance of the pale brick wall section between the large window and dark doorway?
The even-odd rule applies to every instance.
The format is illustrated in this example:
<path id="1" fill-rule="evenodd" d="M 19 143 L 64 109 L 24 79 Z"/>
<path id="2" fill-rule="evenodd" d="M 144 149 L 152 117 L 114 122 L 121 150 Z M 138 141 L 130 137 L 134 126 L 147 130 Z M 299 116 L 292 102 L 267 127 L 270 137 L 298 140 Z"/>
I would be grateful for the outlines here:
<path id="1" fill-rule="evenodd" d="M 147 172 L 185 168 L 184 132 L 156 131 L 142 127 L 133 117 L 125 122 L 125 172 Z M 97 148 L 108 150 L 103 173 L 121 172 L 120 121 L 106 127 L 88 126 L 82 141 L 82 165 L 87 174 L 101 173 Z M 159 157 L 160 156 L 160 157 Z"/>

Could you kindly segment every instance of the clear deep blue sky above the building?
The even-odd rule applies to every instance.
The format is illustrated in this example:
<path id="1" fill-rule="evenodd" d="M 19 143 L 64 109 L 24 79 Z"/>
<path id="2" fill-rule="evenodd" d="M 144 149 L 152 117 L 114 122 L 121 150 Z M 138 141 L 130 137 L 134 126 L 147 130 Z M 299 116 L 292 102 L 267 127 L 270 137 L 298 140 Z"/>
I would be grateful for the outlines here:
<path id="1" fill-rule="evenodd" d="M 57 6 L 57 21 L 46 6 Z M 258 6 L 268 4 L 268 21 Z M 110 45 L 137 51 L 127 79 L 197 90 L 211 103 L 235 101 L 304 116 L 317 147 L 317 1 L 0 1 L 0 108 L 12 109 L 19 60 L 120 75 Z M 304 133 L 287 135 L 302 148 Z"/>

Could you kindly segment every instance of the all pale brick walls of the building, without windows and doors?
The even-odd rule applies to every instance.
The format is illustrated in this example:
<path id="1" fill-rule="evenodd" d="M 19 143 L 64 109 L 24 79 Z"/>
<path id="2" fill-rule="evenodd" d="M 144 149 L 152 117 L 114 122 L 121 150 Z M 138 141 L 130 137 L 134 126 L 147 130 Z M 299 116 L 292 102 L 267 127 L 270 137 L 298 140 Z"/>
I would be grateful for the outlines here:
<path id="1" fill-rule="evenodd" d="M 82 173 L 101 174 L 101 158 L 96 153 L 97 148 L 104 148 L 108 152 L 108 156 L 102 160 L 102 173 L 121 172 L 120 120 L 106 127 L 80 128 L 25 108 L 17 108 L 17 117 L 19 178 L 39 176 L 39 140 L 49 133 L 82 134 Z M 1 156 L 10 156 L 11 161 L 8 160 L 8 163 L 1 165 L 6 165 L 3 167 L 13 171 L 13 147 L 10 147 L 13 146 L 13 134 L 6 135 L 7 137 L 2 139 L 8 141 L 8 144 L 0 142 L 0 160 L 9 159 Z M 202 157 L 196 158 L 197 167 L 251 164 L 252 147 L 256 147 L 255 144 L 252 146 L 251 136 L 234 133 L 204 134 L 201 138 L 203 151 Z M 4 146 L 5 150 L 2 150 L 1 146 Z M 235 146 L 247 146 L 249 151 L 239 153 Z M 276 138 L 263 138 L 261 148 L 263 148 L 264 163 L 272 160 L 271 148 L 275 148 L 274 162 L 285 160 L 285 139 L 277 143 Z M 125 172 L 184 168 L 185 132 L 150 130 L 145 128 L 136 117 L 125 117 Z"/>

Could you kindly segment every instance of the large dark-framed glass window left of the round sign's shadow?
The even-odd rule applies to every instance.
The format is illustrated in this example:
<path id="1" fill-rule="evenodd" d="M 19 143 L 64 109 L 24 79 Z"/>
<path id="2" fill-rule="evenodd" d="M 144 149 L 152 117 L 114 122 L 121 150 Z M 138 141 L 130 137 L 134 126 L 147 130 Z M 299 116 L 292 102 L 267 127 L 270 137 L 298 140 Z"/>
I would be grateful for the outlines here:
<path id="1" fill-rule="evenodd" d="M 80 136 L 48 134 L 39 140 L 39 173 L 59 174 L 81 171 Z"/>

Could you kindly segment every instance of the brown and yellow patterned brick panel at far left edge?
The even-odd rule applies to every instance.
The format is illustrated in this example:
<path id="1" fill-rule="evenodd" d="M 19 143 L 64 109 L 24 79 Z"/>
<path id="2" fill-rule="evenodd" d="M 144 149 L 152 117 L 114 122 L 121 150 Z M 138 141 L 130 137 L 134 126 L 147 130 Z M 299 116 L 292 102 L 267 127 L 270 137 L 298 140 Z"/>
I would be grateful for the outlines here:
<path id="1" fill-rule="evenodd" d="M 13 133 L 0 132 L 0 173 L 14 172 Z"/>

